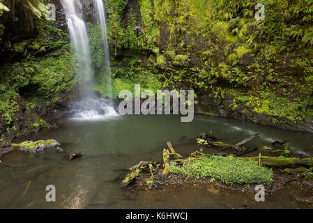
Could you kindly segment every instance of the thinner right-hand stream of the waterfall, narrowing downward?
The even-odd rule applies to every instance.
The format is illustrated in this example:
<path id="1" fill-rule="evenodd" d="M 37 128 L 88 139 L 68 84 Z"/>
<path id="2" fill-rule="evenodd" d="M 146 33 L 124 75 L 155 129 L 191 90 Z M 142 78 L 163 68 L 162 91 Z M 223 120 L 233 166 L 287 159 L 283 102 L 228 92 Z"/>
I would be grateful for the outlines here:
<path id="1" fill-rule="evenodd" d="M 105 71 L 107 74 L 107 87 L 109 88 L 109 97 L 112 98 L 112 79 L 111 79 L 111 64 L 109 61 L 109 43 L 107 41 L 107 23 L 105 21 L 105 6 L 102 0 L 93 0 L 96 17 L 100 23 L 102 38 L 103 38 L 103 48 L 105 52 Z"/>

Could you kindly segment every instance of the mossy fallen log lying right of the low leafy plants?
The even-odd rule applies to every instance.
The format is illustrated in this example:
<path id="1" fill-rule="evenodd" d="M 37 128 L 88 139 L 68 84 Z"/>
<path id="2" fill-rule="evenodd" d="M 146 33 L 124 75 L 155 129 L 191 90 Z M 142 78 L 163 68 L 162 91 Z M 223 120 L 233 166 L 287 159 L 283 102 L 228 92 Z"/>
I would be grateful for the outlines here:
<path id="1" fill-rule="evenodd" d="M 249 159 L 259 162 L 259 157 L 238 157 L 238 159 Z M 313 167 L 313 158 L 262 156 L 261 164 L 268 167 Z"/>

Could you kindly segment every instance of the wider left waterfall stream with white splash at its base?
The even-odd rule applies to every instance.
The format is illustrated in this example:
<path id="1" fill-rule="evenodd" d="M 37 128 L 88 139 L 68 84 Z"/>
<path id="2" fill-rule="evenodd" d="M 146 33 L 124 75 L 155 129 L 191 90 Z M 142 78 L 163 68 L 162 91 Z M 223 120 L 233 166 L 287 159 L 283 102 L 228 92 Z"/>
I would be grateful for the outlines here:
<path id="1" fill-rule="evenodd" d="M 66 12 L 70 40 L 79 66 L 78 70 L 82 72 L 83 91 L 80 100 L 73 102 L 71 105 L 70 114 L 72 115 L 72 119 L 93 120 L 107 118 L 108 116 L 117 116 L 118 114 L 111 106 L 111 102 L 97 98 L 92 93 L 93 71 L 91 69 L 89 36 L 86 24 L 82 20 L 82 4 L 79 0 L 62 0 L 62 4 Z M 108 48 L 106 54 L 109 54 Z M 108 57 L 106 56 L 106 58 Z M 105 65 L 108 67 L 107 69 L 109 69 L 110 74 L 111 68 L 109 63 Z M 109 86 L 111 86 L 111 83 L 109 83 Z"/>

